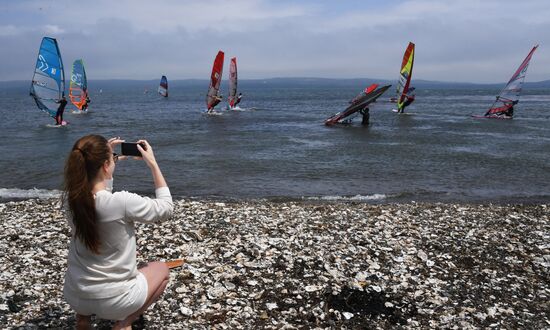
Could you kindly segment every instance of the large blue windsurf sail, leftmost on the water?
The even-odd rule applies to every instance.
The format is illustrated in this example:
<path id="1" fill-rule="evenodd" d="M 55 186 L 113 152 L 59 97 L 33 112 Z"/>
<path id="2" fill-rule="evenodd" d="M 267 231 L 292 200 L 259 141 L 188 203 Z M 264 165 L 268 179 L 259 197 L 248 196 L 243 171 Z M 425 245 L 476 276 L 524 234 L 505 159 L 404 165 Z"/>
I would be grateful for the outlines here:
<path id="1" fill-rule="evenodd" d="M 65 72 L 57 40 L 42 38 L 32 77 L 30 95 L 38 108 L 55 118 L 58 100 L 65 94 Z"/>

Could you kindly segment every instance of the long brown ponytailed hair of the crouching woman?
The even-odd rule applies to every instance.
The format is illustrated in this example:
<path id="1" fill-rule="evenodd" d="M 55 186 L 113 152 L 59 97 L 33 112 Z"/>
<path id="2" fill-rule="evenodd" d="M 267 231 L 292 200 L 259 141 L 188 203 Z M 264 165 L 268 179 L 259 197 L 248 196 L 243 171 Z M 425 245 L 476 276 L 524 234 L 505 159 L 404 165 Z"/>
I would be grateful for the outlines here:
<path id="1" fill-rule="evenodd" d="M 103 136 L 86 135 L 76 141 L 65 164 L 64 199 L 69 203 L 75 236 L 94 253 L 99 253 L 100 244 L 92 182 L 110 155 Z"/>

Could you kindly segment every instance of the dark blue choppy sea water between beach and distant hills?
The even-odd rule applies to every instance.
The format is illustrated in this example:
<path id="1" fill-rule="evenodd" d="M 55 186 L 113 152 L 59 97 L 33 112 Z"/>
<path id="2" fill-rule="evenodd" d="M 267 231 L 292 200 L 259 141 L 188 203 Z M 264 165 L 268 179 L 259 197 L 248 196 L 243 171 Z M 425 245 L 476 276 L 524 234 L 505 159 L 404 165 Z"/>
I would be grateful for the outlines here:
<path id="1" fill-rule="evenodd" d="M 498 88 L 417 88 L 409 115 L 393 87 L 368 127 L 326 127 L 362 85 L 240 84 L 248 111 L 204 114 L 207 82 L 90 82 L 90 113 L 67 127 L 37 109 L 24 82 L 0 85 L 0 199 L 59 194 L 63 166 L 86 134 L 147 139 L 173 195 L 365 202 L 550 200 L 550 91 L 525 90 L 513 120 L 474 119 Z M 203 86 L 204 85 L 204 86 Z M 223 88 L 226 88 L 222 85 Z M 102 89 L 102 93 L 99 90 Z M 144 90 L 149 90 L 144 93 Z M 225 95 L 226 96 L 226 95 Z M 117 163 L 115 189 L 153 194 L 142 161 Z"/>

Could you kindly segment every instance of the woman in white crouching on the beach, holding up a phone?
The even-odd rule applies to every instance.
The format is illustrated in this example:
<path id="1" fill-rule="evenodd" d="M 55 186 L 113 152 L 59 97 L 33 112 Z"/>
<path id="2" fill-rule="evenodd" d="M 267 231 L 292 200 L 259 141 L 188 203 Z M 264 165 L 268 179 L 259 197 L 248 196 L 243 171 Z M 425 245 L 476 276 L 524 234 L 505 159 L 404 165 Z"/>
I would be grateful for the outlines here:
<path id="1" fill-rule="evenodd" d="M 124 142 L 87 135 L 76 141 L 65 164 L 71 244 L 63 294 L 76 311 L 77 329 L 90 326 L 90 316 L 116 321 L 113 329 L 131 329 L 163 293 L 168 267 L 150 262 L 138 269 L 134 222 L 162 221 L 172 215 L 170 190 L 145 140 L 138 141 L 142 159 L 151 169 L 156 198 L 126 191 L 112 192 L 118 155 Z"/>

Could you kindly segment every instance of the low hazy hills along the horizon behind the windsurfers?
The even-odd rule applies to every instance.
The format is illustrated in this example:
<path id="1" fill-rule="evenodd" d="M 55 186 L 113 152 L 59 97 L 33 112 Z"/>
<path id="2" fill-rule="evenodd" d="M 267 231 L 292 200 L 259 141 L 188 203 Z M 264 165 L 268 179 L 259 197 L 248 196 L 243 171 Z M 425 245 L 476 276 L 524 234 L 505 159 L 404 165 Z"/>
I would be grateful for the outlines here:
<path id="1" fill-rule="evenodd" d="M 90 80 L 89 85 L 93 88 L 109 89 L 111 87 L 136 87 L 156 89 L 158 79 L 151 80 Z M 224 84 L 227 81 L 223 82 Z M 334 87 L 334 88 L 362 88 L 372 83 L 392 84 L 395 85 L 395 80 L 373 79 L 373 78 L 353 78 L 353 79 L 331 79 L 331 78 L 268 78 L 268 79 L 241 79 L 239 84 L 241 87 L 296 87 L 296 88 L 317 88 L 317 87 Z M 168 80 L 170 87 L 196 87 L 208 88 L 208 80 L 206 79 L 183 79 L 183 80 Z M 477 89 L 477 88 L 502 88 L 505 82 L 498 84 L 478 84 L 478 83 L 463 83 L 463 82 L 445 82 L 416 79 L 413 85 L 420 89 Z M 0 89 L 28 89 L 30 81 L 0 81 Z M 67 85 L 68 87 L 68 85 Z M 550 89 L 550 80 L 538 82 L 526 82 L 524 89 Z"/>

